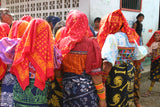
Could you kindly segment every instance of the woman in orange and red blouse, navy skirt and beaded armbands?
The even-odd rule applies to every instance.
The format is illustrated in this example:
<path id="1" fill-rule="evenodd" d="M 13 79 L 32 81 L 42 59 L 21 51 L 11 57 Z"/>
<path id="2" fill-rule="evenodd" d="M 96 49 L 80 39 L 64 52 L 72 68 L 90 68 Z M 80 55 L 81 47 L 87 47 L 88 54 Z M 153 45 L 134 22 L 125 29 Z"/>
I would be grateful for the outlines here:
<path id="1" fill-rule="evenodd" d="M 71 11 L 58 48 L 63 61 L 63 107 L 106 107 L 105 90 L 101 77 L 101 54 L 87 16 Z"/>

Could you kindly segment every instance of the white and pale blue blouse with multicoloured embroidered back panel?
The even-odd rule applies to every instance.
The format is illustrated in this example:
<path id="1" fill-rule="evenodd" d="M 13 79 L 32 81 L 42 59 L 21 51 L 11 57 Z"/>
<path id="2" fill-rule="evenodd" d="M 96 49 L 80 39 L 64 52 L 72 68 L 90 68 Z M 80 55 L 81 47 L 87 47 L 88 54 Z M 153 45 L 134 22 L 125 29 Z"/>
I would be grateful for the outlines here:
<path id="1" fill-rule="evenodd" d="M 101 55 L 104 62 L 110 62 L 114 66 L 132 60 L 140 60 L 147 55 L 147 50 L 136 43 L 130 44 L 125 33 L 117 32 L 107 36 Z"/>

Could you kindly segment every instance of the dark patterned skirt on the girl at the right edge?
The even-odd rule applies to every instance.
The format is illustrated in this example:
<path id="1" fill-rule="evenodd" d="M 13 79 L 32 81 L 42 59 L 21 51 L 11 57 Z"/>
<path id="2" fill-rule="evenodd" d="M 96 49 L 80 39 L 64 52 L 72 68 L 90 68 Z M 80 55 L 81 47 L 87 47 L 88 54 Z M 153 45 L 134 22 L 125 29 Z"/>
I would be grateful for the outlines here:
<path id="1" fill-rule="evenodd" d="M 150 80 L 160 82 L 160 58 L 151 63 Z"/>

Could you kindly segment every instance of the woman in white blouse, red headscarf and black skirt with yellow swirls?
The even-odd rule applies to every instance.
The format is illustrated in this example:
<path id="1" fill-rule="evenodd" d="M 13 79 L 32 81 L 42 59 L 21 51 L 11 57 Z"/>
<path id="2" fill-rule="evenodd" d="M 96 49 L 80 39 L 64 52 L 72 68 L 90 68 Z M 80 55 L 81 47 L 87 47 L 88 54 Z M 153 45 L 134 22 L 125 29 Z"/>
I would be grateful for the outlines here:
<path id="1" fill-rule="evenodd" d="M 147 50 L 137 45 L 139 36 L 129 27 L 120 9 L 102 18 L 97 40 L 102 48 L 107 106 L 126 107 L 133 104 L 133 92 L 137 91 L 134 90 L 134 73 L 138 72 L 134 70 L 133 61 L 139 63 Z"/>

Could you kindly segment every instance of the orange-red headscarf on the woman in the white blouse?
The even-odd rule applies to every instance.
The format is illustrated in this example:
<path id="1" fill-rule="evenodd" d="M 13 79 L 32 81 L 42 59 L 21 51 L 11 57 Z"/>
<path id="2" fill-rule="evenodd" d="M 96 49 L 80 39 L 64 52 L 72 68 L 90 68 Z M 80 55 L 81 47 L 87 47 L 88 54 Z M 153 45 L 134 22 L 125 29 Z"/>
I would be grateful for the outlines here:
<path id="1" fill-rule="evenodd" d="M 139 36 L 136 31 L 129 27 L 126 18 L 121 10 L 116 10 L 101 19 L 100 30 L 98 32 L 97 41 L 100 47 L 103 47 L 108 34 L 116 33 L 123 25 L 122 31 L 127 34 L 129 42 L 134 43 L 134 40 L 139 43 Z"/>

